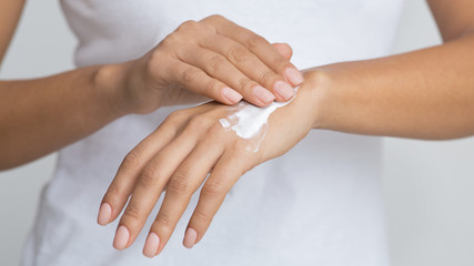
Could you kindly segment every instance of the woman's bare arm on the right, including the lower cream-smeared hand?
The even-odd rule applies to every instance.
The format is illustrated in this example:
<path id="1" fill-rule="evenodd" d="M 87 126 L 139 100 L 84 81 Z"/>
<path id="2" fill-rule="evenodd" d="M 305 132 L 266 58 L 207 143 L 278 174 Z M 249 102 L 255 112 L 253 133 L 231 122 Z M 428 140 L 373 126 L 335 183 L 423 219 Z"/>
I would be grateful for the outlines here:
<path id="1" fill-rule="evenodd" d="M 104 195 L 102 206 L 111 213 L 100 217 L 101 224 L 114 221 L 124 208 L 115 248 L 133 243 L 165 188 L 144 247 L 149 257 L 160 254 L 191 195 L 203 185 L 183 239 L 192 247 L 240 176 L 285 153 L 312 129 L 424 140 L 473 135 L 474 2 L 428 3 L 443 45 L 305 71 L 295 100 L 271 115 L 256 153 L 220 125 L 228 106 L 208 103 L 172 113 L 124 158 Z M 158 237 L 158 245 L 152 237 Z"/>

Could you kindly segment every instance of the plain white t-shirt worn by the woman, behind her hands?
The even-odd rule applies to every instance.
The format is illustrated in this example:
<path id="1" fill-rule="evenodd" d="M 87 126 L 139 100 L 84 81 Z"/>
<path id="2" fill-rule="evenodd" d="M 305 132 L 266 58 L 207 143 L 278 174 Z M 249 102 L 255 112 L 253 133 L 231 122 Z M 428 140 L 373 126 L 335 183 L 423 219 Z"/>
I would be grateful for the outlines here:
<path id="1" fill-rule="evenodd" d="M 78 66 L 138 58 L 181 22 L 220 13 L 271 42 L 289 42 L 300 69 L 386 55 L 402 2 L 61 1 L 79 39 Z M 158 257 L 141 252 L 161 201 L 135 243 L 124 252 L 113 249 L 117 222 L 95 223 L 101 198 L 123 156 L 181 108 L 127 115 L 60 151 L 22 265 L 389 265 L 381 141 L 327 131 L 312 131 L 285 155 L 242 176 L 194 248 L 181 242 L 196 195 Z"/>

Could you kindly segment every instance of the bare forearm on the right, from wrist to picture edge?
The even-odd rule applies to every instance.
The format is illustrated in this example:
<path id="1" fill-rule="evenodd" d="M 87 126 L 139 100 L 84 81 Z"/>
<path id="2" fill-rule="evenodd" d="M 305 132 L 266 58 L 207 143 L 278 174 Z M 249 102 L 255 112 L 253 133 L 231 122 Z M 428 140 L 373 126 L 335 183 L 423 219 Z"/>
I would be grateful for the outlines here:
<path id="1" fill-rule="evenodd" d="M 315 127 L 371 135 L 474 134 L 474 35 L 383 59 L 315 68 Z"/>

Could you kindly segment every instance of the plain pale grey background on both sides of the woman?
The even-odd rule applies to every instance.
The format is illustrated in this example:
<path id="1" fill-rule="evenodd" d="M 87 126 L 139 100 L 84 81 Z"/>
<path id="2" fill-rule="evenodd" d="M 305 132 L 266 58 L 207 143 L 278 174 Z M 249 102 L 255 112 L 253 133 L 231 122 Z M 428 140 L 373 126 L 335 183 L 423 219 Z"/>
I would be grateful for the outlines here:
<path id="1" fill-rule="evenodd" d="M 426 4 L 406 1 L 394 52 L 440 43 Z M 72 69 L 75 40 L 58 1 L 29 1 L 2 79 Z M 0 172 L 0 265 L 17 265 L 56 155 Z M 393 266 L 474 265 L 474 139 L 385 139 L 383 190 Z"/>

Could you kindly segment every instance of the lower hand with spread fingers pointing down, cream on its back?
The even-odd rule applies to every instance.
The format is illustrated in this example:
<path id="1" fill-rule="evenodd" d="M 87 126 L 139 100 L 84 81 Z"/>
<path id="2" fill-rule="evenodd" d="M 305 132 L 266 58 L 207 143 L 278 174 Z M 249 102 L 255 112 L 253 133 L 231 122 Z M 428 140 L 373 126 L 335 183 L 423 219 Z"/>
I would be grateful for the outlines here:
<path id="1" fill-rule="evenodd" d="M 315 84 L 306 79 L 294 100 L 271 114 L 256 152 L 253 140 L 241 139 L 221 125 L 219 120 L 226 117 L 232 106 L 211 102 L 172 113 L 127 155 L 103 197 L 98 217 L 101 225 L 114 221 L 131 195 L 114 247 L 123 249 L 134 242 L 167 187 L 143 249 L 149 257 L 158 255 L 192 194 L 205 181 L 183 241 L 186 247 L 198 243 L 241 175 L 285 153 L 309 133 L 316 117 Z M 205 180 L 208 173 L 211 174 Z"/>

